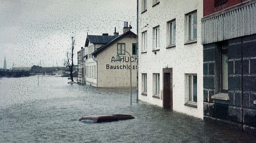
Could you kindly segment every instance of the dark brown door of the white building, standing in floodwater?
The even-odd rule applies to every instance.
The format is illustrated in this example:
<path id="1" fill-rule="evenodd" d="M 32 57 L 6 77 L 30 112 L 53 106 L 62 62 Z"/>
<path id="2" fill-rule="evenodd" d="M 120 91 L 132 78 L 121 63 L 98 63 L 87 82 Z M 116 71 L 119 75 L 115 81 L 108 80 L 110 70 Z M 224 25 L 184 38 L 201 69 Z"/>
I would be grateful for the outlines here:
<path id="1" fill-rule="evenodd" d="M 163 69 L 163 108 L 172 109 L 172 68 Z"/>

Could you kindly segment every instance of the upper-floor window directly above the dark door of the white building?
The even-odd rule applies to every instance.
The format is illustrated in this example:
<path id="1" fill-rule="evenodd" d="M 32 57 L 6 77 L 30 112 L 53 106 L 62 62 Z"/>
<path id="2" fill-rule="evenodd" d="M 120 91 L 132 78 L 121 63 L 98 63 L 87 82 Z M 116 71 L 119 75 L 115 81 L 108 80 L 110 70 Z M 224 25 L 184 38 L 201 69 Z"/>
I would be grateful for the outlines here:
<path id="1" fill-rule="evenodd" d="M 168 22 L 167 24 L 167 46 L 169 45 L 175 45 L 175 40 L 176 40 L 176 20 L 172 20 Z"/>

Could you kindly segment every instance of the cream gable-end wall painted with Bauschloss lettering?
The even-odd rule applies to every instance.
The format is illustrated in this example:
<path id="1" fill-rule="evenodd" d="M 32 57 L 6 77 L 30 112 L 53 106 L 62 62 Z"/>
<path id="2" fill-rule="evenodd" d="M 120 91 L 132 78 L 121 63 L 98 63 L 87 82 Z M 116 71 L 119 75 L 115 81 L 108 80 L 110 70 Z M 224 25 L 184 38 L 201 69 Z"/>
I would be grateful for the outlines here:
<path id="1" fill-rule="evenodd" d="M 97 62 L 97 87 L 130 87 L 130 78 L 131 85 L 136 87 L 136 42 L 136 34 L 127 31 L 92 53 Z M 117 54 L 121 62 L 114 61 Z"/>

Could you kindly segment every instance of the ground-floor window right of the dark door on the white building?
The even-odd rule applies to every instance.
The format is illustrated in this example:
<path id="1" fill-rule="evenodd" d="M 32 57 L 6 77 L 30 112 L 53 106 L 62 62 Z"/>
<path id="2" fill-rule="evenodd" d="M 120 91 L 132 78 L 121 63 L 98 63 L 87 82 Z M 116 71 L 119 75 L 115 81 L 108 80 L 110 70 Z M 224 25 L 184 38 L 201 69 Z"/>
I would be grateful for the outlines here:
<path id="1" fill-rule="evenodd" d="M 197 104 L 196 74 L 186 74 L 186 104 Z"/>

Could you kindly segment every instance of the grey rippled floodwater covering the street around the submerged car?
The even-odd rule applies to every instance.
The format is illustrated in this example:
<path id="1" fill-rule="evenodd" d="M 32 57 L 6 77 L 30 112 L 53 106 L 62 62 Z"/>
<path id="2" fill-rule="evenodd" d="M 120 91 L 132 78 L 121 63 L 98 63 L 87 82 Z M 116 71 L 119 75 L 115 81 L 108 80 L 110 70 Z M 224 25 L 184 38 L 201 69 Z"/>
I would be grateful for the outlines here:
<path id="1" fill-rule="evenodd" d="M 39 85 L 38 85 L 39 79 Z M 253 143 L 256 137 L 178 112 L 130 105 L 129 88 L 67 84 L 67 78 L 0 78 L 0 143 Z M 136 118 L 84 123 L 84 115 Z"/>

